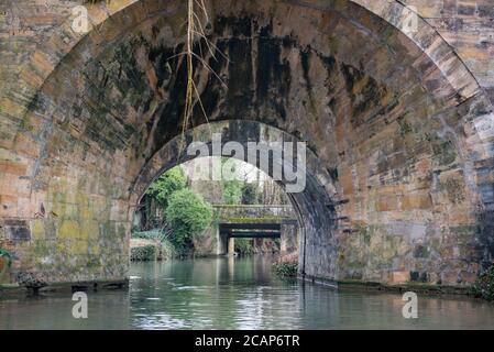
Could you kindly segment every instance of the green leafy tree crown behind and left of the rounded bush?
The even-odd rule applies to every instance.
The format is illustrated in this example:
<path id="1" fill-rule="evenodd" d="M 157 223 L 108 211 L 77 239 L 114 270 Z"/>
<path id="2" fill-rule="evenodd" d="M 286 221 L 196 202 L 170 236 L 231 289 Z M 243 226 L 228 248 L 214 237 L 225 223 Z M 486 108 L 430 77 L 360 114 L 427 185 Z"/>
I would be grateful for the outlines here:
<path id="1" fill-rule="evenodd" d="M 182 190 L 187 186 L 187 177 L 180 167 L 174 167 L 160 176 L 150 188 L 146 195 L 156 200 L 163 207 L 167 206 L 167 200 L 177 190 Z"/>

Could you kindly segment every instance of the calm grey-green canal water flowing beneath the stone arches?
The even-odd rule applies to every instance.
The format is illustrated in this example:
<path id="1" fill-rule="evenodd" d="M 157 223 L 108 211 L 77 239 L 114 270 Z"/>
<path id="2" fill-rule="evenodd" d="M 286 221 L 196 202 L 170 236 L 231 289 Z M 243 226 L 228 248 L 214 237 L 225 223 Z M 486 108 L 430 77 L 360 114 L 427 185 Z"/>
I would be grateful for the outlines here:
<path id="1" fill-rule="evenodd" d="M 494 329 L 494 305 L 420 297 L 404 319 L 402 296 L 336 292 L 272 274 L 271 256 L 132 264 L 129 290 L 0 299 L 0 329 Z"/>

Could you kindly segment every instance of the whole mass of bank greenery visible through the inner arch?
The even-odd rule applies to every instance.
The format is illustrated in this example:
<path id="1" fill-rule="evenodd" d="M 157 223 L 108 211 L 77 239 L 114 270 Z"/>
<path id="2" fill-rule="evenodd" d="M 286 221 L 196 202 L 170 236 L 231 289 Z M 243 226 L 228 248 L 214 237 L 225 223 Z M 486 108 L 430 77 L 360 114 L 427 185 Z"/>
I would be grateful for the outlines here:
<path id="1" fill-rule="evenodd" d="M 221 160 L 222 167 L 226 167 L 227 162 L 229 158 Z M 249 178 L 253 177 L 252 170 L 242 165 L 240 162 L 229 165 L 231 172 L 238 174 L 238 179 L 197 180 L 194 175 L 200 168 L 193 164 L 173 167 L 164 173 L 149 187 L 140 202 L 131 248 L 154 243 L 157 246 L 157 258 L 212 254 L 216 253 L 217 239 L 208 228 L 211 223 L 213 227 L 218 226 L 218 220 L 213 220 L 211 204 L 223 207 L 255 207 L 287 202 L 283 189 L 275 183 L 262 180 L 259 175 L 257 182 L 253 182 Z M 271 222 L 283 218 L 260 218 L 248 211 L 230 221 Z M 136 239 L 154 242 L 145 243 Z M 279 243 L 271 240 L 235 239 L 234 250 L 241 255 L 277 253 Z M 143 257 L 142 251 L 135 251 L 139 254 L 134 254 L 133 260 Z"/>

